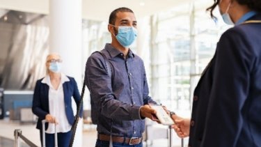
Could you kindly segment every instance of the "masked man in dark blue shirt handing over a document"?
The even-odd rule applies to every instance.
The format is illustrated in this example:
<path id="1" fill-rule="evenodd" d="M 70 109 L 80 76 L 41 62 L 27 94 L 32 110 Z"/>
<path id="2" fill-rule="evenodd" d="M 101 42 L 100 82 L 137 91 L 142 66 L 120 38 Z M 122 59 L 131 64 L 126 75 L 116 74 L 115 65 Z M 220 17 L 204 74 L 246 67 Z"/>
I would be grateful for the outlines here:
<path id="1" fill-rule="evenodd" d="M 137 36 L 137 21 L 129 8 L 113 10 L 108 30 L 111 44 L 93 53 L 86 63 L 92 118 L 97 124 L 96 146 L 142 146 L 144 118 L 156 113 L 142 59 L 129 45 Z"/>

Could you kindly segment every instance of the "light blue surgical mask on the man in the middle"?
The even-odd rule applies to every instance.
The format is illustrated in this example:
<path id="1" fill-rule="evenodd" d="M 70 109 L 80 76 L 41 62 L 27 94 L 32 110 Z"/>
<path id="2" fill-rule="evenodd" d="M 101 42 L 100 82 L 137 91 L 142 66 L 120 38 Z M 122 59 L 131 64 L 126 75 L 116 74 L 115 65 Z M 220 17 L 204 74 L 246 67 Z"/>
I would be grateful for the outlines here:
<path id="1" fill-rule="evenodd" d="M 137 30 L 132 26 L 118 26 L 118 34 L 116 39 L 123 47 L 129 47 L 132 45 L 137 37 Z"/>

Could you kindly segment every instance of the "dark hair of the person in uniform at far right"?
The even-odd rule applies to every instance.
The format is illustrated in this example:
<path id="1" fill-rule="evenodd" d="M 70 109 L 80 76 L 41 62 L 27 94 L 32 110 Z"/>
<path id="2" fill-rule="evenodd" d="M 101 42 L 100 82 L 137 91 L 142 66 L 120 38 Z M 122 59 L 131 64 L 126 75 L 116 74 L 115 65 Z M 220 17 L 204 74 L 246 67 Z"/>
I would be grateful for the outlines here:
<path id="1" fill-rule="evenodd" d="M 221 0 L 214 0 L 213 5 L 210 6 L 209 8 L 207 8 L 207 11 L 210 12 L 210 16 L 212 18 L 216 18 L 213 15 L 213 10 L 219 4 L 219 1 L 221 1 Z M 235 1 L 237 1 L 240 5 L 248 6 L 248 8 L 250 8 L 251 10 L 261 12 L 261 1 L 260 0 L 235 0 Z"/>

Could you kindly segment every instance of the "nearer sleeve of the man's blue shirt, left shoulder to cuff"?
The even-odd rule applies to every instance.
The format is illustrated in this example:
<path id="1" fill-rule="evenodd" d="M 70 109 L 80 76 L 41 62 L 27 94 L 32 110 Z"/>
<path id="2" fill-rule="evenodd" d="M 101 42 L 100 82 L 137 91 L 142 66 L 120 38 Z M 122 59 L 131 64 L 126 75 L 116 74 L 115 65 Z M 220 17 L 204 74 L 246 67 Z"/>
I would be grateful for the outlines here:
<path id="1" fill-rule="evenodd" d="M 102 116 L 123 121 L 141 119 L 141 106 L 130 105 L 116 100 L 111 88 L 111 77 L 106 71 L 103 57 L 92 54 L 86 62 L 86 85 L 95 107 Z"/>

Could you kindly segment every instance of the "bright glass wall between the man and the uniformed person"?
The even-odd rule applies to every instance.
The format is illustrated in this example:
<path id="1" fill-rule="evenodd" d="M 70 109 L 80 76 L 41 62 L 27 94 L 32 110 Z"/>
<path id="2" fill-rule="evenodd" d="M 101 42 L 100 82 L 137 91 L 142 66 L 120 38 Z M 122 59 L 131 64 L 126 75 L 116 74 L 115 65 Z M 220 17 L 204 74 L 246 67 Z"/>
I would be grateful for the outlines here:
<path id="1" fill-rule="evenodd" d="M 191 98 L 201 72 L 214 55 L 216 42 L 229 26 L 223 24 L 219 10 L 218 21 L 206 13 L 202 1 L 186 3 L 178 8 L 155 14 L 157 21 L 152 33 L 155 47 L 151 48 L 153 69 L 152 96 L 166 107 L 190 116 Z M 216 8 L 218 9 L 218 8 Z M 153 18 L 155 18 L 155 16 Z"/>

